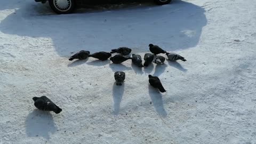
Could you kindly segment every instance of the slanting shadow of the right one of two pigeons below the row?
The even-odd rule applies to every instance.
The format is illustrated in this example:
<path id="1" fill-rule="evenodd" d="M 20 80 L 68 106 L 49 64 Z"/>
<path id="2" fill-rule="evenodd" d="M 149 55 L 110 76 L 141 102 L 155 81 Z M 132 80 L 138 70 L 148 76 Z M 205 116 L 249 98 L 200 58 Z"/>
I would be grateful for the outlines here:
<path id="1" fill-rule="evenodd" d="M 153 102 L 153 105 L 156 109 L 156 112 L 158 115 L 162 117 L 166 117 L 167 113 L 163 106 L 163 98 L 162 93 L 160 93 L 157 89 L 152 87 L 150 84 L 148 84 L 148 93 L 151 101 Z"/>

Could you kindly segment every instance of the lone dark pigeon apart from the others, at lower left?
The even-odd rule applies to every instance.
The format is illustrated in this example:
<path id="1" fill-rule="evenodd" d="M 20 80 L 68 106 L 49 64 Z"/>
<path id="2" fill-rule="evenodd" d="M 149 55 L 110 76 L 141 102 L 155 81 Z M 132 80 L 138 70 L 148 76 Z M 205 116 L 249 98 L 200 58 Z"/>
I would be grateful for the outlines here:
<path id="1" fill-rule="evenodd" d="M 34 97 L 35 101 L 34 105 L 36 108 L 44 111 L 54 111 L 54 113 L 59 114 L 62 109 L 56 106 L 50 99 L 45 96 L 42 97 Z"/>

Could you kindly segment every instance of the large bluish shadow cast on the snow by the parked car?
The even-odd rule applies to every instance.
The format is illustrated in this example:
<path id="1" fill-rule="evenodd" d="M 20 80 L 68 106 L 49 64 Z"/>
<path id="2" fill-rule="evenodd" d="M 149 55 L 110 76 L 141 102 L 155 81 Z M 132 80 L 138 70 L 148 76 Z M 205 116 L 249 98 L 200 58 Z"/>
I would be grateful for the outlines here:
<path id="1" fill-rule="evenodd" d="M 144 53 L 148 44 L 153 43 L 166 51 L 187 49 L 197 45 L 207 23 L 202 7 L 180 0 L 163 6 L 124 3 L 115 9 L 111 6 L 83 9 L 66 15 L 54 14 L 47 4 L 11 1 L 13 5 L 3 9 L 13 7 L 15 12 L 1 20 L 0 31 L 22 37 L 51 38 L 47 42 L 52 43 L 60 57 L 70 57 L 70 52 L 78 52 L 81 47 L 107 51 L 127 46 Z"/>

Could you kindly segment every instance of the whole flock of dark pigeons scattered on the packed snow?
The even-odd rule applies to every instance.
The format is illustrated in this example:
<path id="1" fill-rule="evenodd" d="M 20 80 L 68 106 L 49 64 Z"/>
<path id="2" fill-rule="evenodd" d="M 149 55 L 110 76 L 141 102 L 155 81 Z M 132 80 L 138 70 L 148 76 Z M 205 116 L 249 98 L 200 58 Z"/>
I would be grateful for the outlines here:
<path id="1" fill-rule="evenodd" d="M 141 56 L 138 54 L 132 54 L 132 57 L 126 57 L 124 55 L 128 55 L 131 53 L 131 49 L 129 49 L 128 47 L 119 47 L 118 49 L 114 49 L 111 50 L 111 52 L 96 52 L 93 54 L 90 54 L 89 51 L 80 51 L 76 54 L 74 54 L 73 56 L 70 57 L 70 61 L 74 60 L 74 59 L 78 59 L 78 60 L 84 60 L 87 59 L 88 57 L 93 57 L 99 60 L 107 60 L 110 58 L 110 60 L 113 63 L 116 64 L 120 64 L 126 60 L 131 59 L 132 63 L 134 63 L 134 65 L 138 66 L 138 67 L 147 67 L 150 65 L 151 62 L 155 62 L 156 64 L 163 64 L 165 61 L 165 58 L 161 55 L 157 55 L 159 53 L 165 53 L 167 55 L 167 58 L 171 61 L 177 61 L 177 60 L 182 60 L 182 61 L 186 61 L 185 58 L 181 57 L 179 54 L 174 53 L 174 52 L 166 52 L 163 49 L 161 49 L 161 47 L 157 46 L 157 45 L 153 45 L 153 44 L 149 44 L 149 50 L 151 53 L 153 53 L 154 55 L 156 55 L 156 58 L 154 57 L 153 54 L 151 53 L 146 53 L 144 55 L 144 60 L 145 62 L 142 65 L 142 59 Z M 111 57 L 111 53 L 119 53 L 117 55 L 115 55 L 114 57 Z M 155 58 L 155 60 L 154 60 Z M 124 82 L 125 79 L 125 73 L 123 71 L 117 71 L 114 75 L 115 77 L 115 81 L 116 81 L 116 85 L 122 85 L 122 83 Z M 155 87 L 156 89 L 158 89 L 160 92 L 166 92 L 160 79 L 157 76 L 152 76 L 152 75 L 148 75 L 149 77 L 149 84 L 153 87 Z M 34 105 L 36 108 L 40 109 L 40 110 L 45 110 L 45 111 L 54 111 L 54 113 L 59 114 L 62 109 L 59 108 L 57 105 L 55 105 L 55 103 L 53 103 L 49 98 L 47 98 L 46 96 L 42 96 L 42 97 L 34 97 Z"/>

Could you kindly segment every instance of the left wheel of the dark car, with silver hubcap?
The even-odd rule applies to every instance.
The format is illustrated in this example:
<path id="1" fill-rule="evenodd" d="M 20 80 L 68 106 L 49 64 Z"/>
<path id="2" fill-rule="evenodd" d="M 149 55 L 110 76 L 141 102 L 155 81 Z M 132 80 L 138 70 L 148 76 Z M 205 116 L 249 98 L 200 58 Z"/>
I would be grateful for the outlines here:
<path id="1" fill-rule="evenodd" d="M 49 0 L 49 5 L 55 13 L 68 14 L 76 9 L 76 0 Z"/>

